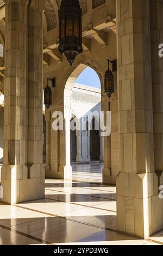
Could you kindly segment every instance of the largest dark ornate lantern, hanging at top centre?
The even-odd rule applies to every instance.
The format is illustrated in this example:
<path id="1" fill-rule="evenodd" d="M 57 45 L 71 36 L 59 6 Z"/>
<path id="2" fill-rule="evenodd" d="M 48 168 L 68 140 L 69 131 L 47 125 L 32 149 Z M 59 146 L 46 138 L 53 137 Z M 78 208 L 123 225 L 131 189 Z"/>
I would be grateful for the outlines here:
<path id="1" fill-rule="evenodd" d="M 82 9 L 78 0 L 62 0 L 59 9 L 59 51 L 70 65 L 83 52 Z"/>

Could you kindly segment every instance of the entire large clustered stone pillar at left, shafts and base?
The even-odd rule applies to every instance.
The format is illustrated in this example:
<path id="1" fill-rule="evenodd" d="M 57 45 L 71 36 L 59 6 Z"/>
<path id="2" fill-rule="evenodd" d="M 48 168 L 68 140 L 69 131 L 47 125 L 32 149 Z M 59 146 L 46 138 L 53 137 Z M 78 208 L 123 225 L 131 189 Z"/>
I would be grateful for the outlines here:
<path id="1" fill-rule="evenodd" d="M 9 204 L 44 197 L 41 150 L 43 3 L 32 1 L 28 52 L 28 1 L 5 1 L 5 150 L 1 185 L 2 201 Z"/>

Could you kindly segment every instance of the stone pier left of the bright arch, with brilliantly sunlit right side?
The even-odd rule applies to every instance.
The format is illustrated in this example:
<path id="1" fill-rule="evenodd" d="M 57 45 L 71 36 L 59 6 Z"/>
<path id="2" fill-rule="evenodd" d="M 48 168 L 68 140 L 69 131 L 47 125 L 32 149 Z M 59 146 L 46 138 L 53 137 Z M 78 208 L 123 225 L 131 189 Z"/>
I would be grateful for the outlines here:
<path id="1" fill-rule="evenodd" d="M 72 179 L 70 159 L 70 110 L 70 108 L 66 108 L 64 113 L 62 107 L 55 109 L 52 106 L 49 111 L 46 111 L 46 178 Z M 60 125 L 58 127 L 59 120 Z M 57 125 L 57 129 L 56 127 L 53 129 L 55 125 Z"/>

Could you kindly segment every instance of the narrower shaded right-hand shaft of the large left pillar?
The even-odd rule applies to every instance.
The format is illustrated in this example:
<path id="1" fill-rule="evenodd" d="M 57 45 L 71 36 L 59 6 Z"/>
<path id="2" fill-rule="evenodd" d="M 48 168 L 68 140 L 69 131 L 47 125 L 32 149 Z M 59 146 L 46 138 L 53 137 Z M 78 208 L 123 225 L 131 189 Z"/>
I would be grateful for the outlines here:
<path id="1" fill-rule="evenodd" d="M 42 2 L 42 1 L 41 1 Z M 40 178 L 42 165 L 43 6 L 32 1 L 28 27 L 28 178 Z"/>

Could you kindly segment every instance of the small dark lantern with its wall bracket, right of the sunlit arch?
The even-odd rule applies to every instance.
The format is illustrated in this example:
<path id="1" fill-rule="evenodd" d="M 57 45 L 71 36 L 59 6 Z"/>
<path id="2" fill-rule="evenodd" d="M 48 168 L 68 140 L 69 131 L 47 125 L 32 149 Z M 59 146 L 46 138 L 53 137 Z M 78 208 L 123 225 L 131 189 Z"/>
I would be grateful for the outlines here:
<path id="1" fill-rule="evenodd" d="M 114 93 L 114 75 L 112 72 L 117 70 L 117 61 L 116 60 L 108 60 L 108 70 L 105 72 L 104 76 L 104 92 L 111 97 L 111 94 Z M 112 64 L 112 71 L 109 68 L 109 64 Z"/>

